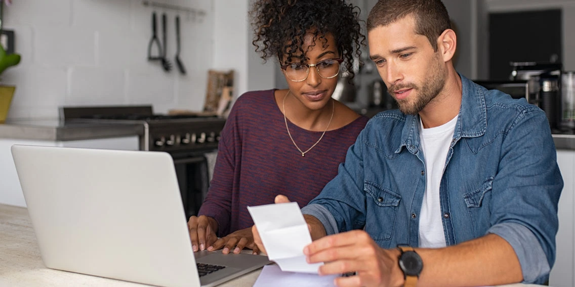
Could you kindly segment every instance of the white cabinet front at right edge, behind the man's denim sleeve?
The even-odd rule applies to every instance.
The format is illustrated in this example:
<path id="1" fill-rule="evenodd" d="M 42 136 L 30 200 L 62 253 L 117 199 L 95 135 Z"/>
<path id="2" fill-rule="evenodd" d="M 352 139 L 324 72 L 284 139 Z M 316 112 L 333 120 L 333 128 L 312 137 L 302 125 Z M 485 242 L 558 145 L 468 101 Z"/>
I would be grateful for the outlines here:
<path id="1" fill-rule="evenodd" d="M 573 241 L 573 231 L 575 224 L 575 151 L 558 150 L 557 164 L 561 170 L 565 187 L 561 192 L 559 199 L 559 230 L 557 231 L 557 257 L 555 265 L 551 269 L 549 277 L 549 286 L 553 287 L 572 287 L 573 283 L 573 250 L 575 242 Z"/>

